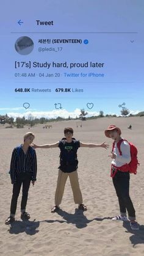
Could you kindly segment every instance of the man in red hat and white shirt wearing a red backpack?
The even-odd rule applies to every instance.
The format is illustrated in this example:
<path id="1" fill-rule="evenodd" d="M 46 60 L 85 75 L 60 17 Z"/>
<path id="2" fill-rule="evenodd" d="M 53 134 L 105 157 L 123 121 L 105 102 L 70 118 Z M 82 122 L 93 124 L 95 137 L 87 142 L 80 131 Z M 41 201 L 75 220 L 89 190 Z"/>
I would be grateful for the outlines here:
<path id="1" fill-rule="evenodd" d="M 120 215 L 112 218 L 113 221 L 128 221 L 132 230 L 139 230 L 139 225 L 135 221 L 135 209 L 129 196 L 129 179 L 130 174 L 137 172 L 137 148 L 125 139 L 121 138 L 121 130 L 115 125 L 110 125 L 104 131 L 106 137 L 114 140 L 112 147 L 112 166 L 111 177 L 113 186 L 117 193 L 118 202 L 120 205 Z"/>

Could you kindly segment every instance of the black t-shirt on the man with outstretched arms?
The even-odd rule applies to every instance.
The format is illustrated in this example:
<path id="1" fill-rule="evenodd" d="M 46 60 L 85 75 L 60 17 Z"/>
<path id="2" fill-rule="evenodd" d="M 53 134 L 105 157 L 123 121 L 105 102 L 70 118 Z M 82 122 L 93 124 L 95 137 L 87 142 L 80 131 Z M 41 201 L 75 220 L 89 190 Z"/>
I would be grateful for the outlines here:
<path id="1" fill-rule="evenodd" d="M 67 142 L 65 139 L 59 142 L 60 170 L 63 172 L 73 172 L 77 169 L 77 149 L 79 147 L 80 142 L 74 139 L 72 142 Z"/>

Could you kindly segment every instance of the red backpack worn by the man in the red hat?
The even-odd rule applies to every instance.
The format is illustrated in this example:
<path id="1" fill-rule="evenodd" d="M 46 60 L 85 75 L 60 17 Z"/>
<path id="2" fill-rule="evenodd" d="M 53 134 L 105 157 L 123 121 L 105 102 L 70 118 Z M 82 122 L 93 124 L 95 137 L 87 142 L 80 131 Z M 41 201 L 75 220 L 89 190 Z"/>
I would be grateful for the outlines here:
<path id="1" fill-rule="evenodd" d="M 118 147 L 120 156 L 122 156 L 122 152 L 120 150 L 120 145 L 121 145 L 121 142 L 123 142 L 123 141 L 126 141 L 126 139 L 120 139 L 120 141 L 118 141 L 118 143 L 117 143 L 117 147 Z M 128 142 L 128 141 L 126 141 L 126 142 Z M 137 160 L 137 148 L 131 142 L 128 142 L 128 144 L 130 145 L 131 162 L 129 164 L 124 164 L 123 166 L 118 167 L 118 170 L 121 170 L 121 172 L 129 172 L 130 174 L 137 174 L 137 166 L 140 165 Z M 113 142 L 113 145 L 112 145 L 112 152 L 113 152 L 114 147 L 115 147 L 115 142 Z"/>

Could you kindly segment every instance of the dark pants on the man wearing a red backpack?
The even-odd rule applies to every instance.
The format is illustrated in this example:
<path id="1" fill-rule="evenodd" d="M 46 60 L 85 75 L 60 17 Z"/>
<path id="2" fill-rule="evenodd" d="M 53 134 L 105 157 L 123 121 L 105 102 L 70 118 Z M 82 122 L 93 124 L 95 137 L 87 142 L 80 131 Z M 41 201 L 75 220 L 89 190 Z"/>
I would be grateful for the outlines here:
<path id="1" fill-rule="evenodd" d="M 120 205 L 120 214 L 126 216 L 128 211 L 129 220 L 135 220 L 135 210 L 132 204 L 131 197 L 129 196 L 129 172 L 121 172 L 118 170 L 115 177 L 112 178 L 115 191 L 117 193 L 118 202 Z"/>

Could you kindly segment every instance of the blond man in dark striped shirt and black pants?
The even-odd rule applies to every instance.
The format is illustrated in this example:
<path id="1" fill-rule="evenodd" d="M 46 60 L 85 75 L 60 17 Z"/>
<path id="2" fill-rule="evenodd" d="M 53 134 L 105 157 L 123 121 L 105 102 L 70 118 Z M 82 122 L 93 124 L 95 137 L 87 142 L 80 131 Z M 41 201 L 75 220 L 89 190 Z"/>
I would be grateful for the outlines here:
<path id="1" fill-rule="evenodd" d="M 5 221 L 7 225 L 15 221 L 17 200 L 22 184 L 21 219 L 30 218 L 30 214 L 26 212 L 27 196 L 31 181 L 34 186 L 37 176 L 37 156 L 34 148 L 30 146 L 34 138 L 34 133 L 29 132 L 24 134 L 23 144 L 15 147 L 12 152 L 9 173 L 13 184 L 13 194 L 10 205 L 10 216 Z"/>

